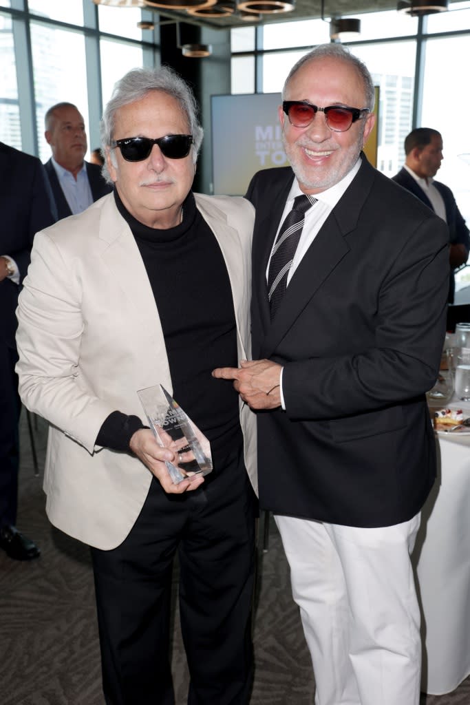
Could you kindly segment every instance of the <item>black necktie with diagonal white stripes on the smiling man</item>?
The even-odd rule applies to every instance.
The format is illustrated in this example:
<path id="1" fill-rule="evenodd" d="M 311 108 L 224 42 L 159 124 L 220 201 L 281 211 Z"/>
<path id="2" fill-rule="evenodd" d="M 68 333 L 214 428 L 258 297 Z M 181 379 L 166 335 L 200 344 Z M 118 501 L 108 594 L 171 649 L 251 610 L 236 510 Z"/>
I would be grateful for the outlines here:
<path id="1" fill-rule="evenodd" d="M 316 203 L 314 196 L 306 196 L 304 194 L 296 196 L 292 211 L 285 216 L 276 243 L 274 243 L 268 270 L 268 299 L 271 321 L 287 287 L 287 275 L 292 266 L 300 235 L 302 235 L 305 213 L 314 203 Z"/>

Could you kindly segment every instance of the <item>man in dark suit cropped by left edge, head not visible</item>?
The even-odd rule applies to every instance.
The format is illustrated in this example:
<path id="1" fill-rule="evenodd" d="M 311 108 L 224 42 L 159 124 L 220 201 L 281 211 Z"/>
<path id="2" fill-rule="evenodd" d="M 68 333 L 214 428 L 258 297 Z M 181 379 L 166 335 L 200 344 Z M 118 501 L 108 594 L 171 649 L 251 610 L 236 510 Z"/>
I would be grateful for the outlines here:
<path id="1" fill-rule="evenodd" d="M 44 166 L 37 157 L 0 142 L 0 547 L 29 560 L 39 548 L 16 529 L 18 419 L 20 398 L 15 364 L 18 293 L 30 264 L 35 233 L 54 223 L 56 213 Z"/>

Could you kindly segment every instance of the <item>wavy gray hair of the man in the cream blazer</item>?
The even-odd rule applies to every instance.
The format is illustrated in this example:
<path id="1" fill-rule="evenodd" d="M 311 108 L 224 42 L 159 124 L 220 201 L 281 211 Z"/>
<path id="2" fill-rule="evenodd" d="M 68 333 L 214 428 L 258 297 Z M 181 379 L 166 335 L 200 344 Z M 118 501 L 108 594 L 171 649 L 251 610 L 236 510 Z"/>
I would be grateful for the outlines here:
<path id="1" fill-rule="evenodd" d="M 187 117 L 192 134 L 192 161 L 196 164 L 199 147 L 202 143 L 204 130 L 197 118 L 197 103 L 189 85 L 183 78 L 170 68 L 133 68 L 114 85 L 113 94 L 106 105 L 99 126 L 101 148 L 111 147 L 118 109 L 146 97 L 151 91 L 161 91 L 175 98 Z M 128 135 L 130 137 L 132 135 Z M 149 135 L 151 136 L 151 135 Z M 110 151 L 111 161 L 116 166 L 116 156 Z M 113 183 L 105 162 L 102 173 L 108 183 Z"/>

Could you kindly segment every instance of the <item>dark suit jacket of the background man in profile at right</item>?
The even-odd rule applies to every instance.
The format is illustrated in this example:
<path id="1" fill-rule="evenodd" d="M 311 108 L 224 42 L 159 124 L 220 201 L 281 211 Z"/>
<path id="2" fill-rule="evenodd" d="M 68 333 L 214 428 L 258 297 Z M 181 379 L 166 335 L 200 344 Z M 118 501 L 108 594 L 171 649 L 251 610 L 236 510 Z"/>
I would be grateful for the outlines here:
<path id="1" fill-rule="evenodd" d="M 401 168 L 400 171 L 392 176 L 392 180 L 399 183 L 400 186 L 406 188 L 408 191 L 412 192 L 420 201 L 426 203 L 426 206 L 433 210 L 433 204 L 428 199 L 426 193 L 423 191 L 416 179 L 405 169 Z M 466 251 L 470 250 L 470 236 L 469 228 L 466 227 L 464 217 L 459 211 L 457 202 L 454 199 L 454 194 L 448 186 L 440 181 L 433 181 L 433 185 L 439 191 L 440 195 L 443 197 L 445 204 L 445 219 L 447 221 L 447 226 L 449 227 L 449 241 L 452 245 L 464 245 Z M 455 281 L 454 272 L 450 272 L 450 282 L 449 282 L 449 302 L 454 302 L 454 291 L 455 291 Z"/>

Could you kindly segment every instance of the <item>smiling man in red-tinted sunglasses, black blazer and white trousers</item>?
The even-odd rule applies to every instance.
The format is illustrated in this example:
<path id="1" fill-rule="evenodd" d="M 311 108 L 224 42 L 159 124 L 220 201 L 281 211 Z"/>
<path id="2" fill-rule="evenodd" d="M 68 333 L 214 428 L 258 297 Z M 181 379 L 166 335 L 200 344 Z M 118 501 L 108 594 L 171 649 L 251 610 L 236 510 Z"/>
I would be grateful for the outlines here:
<path id="1" fill-rule="evenodd" d="M 409 554 L 435 479 L 425 393 L 448 235 L 361 153 L 372 109 L 371 75 L 340 44 L 290 71 L 279 118 L 292 168 L 260 171 L 247 193 L 254 360 L 213 373 L 259 410 L 259 498 L 290 563 L 316 705 L 419 702 Z"/>

